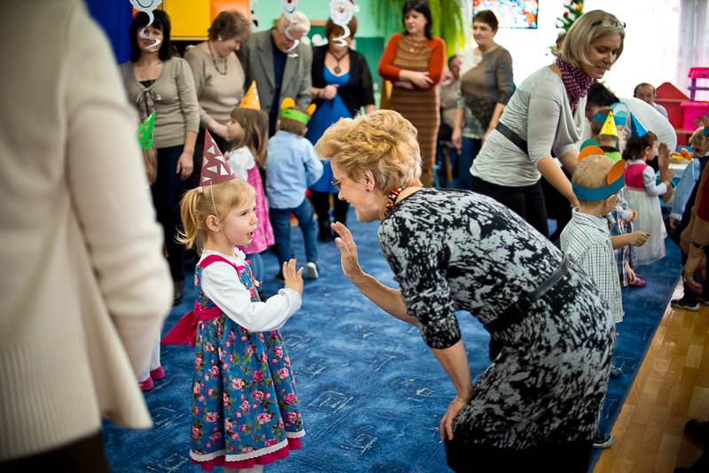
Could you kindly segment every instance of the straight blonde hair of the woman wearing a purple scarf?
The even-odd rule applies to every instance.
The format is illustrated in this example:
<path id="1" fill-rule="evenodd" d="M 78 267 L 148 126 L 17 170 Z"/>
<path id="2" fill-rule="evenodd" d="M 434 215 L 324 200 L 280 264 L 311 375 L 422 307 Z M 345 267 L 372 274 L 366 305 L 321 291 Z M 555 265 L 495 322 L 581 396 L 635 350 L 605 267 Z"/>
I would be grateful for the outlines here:
<path id="1" fill-rule="evenodd" d="M 561 48 L 561 58 L 567 63 L 580 67 L 582 65 L 593 66 L 588 60 L 588 46 L 601 38 L 613 34 L 620 35 L 620 48 L 616 59 L 623 52 L 625 42 L 625 24 L 620 22 L 615 15 L 603 10 L 593 10 L 584 13 L 573 22 L 564 38 L 564 45 Z"/>

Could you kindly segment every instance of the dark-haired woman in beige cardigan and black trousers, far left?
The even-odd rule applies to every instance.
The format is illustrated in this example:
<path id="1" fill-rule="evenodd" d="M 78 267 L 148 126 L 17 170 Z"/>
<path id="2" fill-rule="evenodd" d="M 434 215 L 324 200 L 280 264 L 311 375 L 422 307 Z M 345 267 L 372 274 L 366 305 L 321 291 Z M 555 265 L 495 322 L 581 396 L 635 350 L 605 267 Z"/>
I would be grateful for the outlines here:
<path id="1" fill-rule="evenodd" d="M 170 19 L 156 10 L 152 25 L 138 12 L 130 25 L 130 60 L 121 64 L 129 102 L 141 120 L 155 111 L 153 145 L 158 174 L 152 183 L 152 203 L 165 234 L 168 263 L 175 283 L 175 303 L 182 300 L 184 246 L 175 240 L 180 222 L 179 205 L 184 181 L 192 174 L 199 105 L 190 65 L 170 56 Z M 137 127 L 137 123 L 136 123 Z M 148 381 L 150 378 L 146 378 Z"/>

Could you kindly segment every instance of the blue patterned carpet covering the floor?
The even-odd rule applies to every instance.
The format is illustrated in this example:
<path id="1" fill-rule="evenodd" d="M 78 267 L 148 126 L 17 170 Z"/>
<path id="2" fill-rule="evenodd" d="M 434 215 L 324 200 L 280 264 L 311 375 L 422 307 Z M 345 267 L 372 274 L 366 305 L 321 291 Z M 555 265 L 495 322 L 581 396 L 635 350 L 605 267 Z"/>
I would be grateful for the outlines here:
<path id="1" fill-rule="evenodd" d="M 379 251 L 377 223 L 354 222 L 362 267 L 394 285 Z M 296 256 L 304 257 L 299 231 Z M 625 376 L 612 380 L 602 423 L 612 425 L 632 384 L 647 345 L 674 288 L 679 251 L 668 242 L 668 256 L 642 274 L 648 286 L 624 292 L 626 322 L 619 325 L 616 363 Z M 282 331 L 295 368 L 305 420 L 303 449 L 266 469 L 269 472 L 438 472 L 445 470 L 439 443 L 440 416 L 455 395 L 452 384 L 413 327 L 385 314 L 347 282 L 334 244 L 319 244 L 321 279 L 306 282 L 302 309 Z M 266 294 L 280 287 L 277 261 L 264 254 Z M 166 327 L 191 309 L 195 291 L 186 278 L 184 302 Z M 471 372 L 487 367 L 487 332 L 469 314 L 459 314 Z M 163 347 L 165 380 L 145 395 L 155 427 L 122 430 L 105 424 L 105 450 L 113 471 L 199 471 L 189 460 L 189 347 Z M 216 469 L 217 471 L 220 469 Z"/>

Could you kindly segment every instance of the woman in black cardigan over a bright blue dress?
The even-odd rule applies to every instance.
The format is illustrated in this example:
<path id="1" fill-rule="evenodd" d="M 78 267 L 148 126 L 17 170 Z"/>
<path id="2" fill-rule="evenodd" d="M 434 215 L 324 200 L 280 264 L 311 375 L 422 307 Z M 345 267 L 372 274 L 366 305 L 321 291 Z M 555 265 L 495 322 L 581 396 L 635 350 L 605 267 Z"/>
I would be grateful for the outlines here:
<path id="1" fill-rule="evenodd" d="M 347 24 L 349 36 L 346 44 L 335 40 L 345 30 L 328 19 L 325 24 L 325 37 L 328 43 L 313 49 L 313 87 L 311 95 L 315 98 L 316 112 L 308 122 L 306 138 L 310 143 L 317 143 L 325 129 L 341 118 L 352 118 L 364 107 L 365 113 L 375 110 L 374 89 L 370 66 L 361 53 L 350 48 L 357 32 L 357 19 L 353 17 Z M 332 170 L 329 161 L 323 161 L 323 177 L 310 188 L 310 199 L 317 213 L 318 234 L 320 241 L 332 239 L 330 229 L 330 199 L 333 202 L 333 218 L 347 222 L 349 205 L 337 198 L 337 190 L 331 186 Z"/>

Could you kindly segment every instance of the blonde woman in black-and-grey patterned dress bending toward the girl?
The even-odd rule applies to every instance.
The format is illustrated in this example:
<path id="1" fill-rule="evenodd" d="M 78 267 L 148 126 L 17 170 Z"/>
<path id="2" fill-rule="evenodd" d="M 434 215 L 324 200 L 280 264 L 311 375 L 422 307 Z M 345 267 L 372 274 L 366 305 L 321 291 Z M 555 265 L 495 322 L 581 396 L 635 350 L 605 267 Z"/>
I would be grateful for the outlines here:
<path id="1" fill-rule="evenodd" d="M 397 112 L 339 120 L 316 149 L 357 219 L 381 221 L 379 244 L 400 288 L 365 273 L 352 235 L 334 223 L 343 273 L 420 328 L 456 388 L 440 420 L 448 465 L 585 472 L 613 348 L 593 281 L 494 199 L 421 188 L 416 129 Z M 501 347 L 474 384 L 460 309 Z"/>

